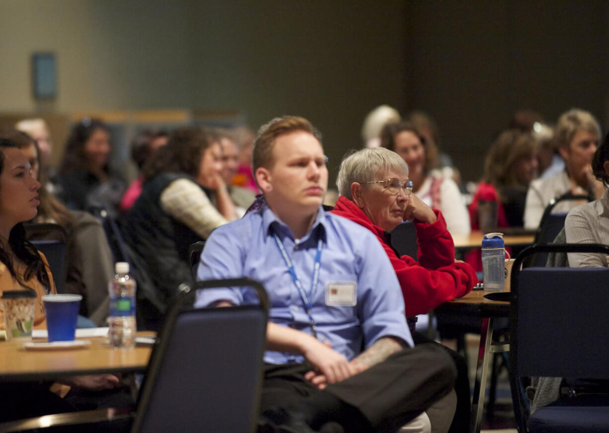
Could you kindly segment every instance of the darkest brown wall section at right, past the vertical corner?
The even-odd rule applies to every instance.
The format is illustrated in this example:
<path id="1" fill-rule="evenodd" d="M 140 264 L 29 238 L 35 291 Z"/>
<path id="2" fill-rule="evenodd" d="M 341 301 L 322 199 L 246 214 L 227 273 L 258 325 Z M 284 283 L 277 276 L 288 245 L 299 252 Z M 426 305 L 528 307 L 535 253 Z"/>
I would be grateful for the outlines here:
<path id="1" fill-rule="evenodd" d="M 609 3 L 407 2 L 406 100 L 437 119 L 463 177 L 513 111 L 547 121 L 571 108 L 607 124 Z"/>

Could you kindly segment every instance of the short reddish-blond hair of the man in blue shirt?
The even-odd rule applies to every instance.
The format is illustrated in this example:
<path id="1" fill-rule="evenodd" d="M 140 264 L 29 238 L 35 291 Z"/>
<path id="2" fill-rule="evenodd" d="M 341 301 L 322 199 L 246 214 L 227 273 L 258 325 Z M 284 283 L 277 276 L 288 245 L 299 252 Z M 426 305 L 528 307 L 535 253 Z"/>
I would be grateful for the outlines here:
<path id="1" fill-rule="evenodd" d="M 320 143 L 322 142 L 322 134 L 304 117 L 275 117 L 258 130 L 252 151 L 252 170 L 254 173 L 256 173 L 258 167 L 269 168 L 273 165 L 273 146 L 276 138 L 294 131 L 305 131 L 312 134 Z"/>

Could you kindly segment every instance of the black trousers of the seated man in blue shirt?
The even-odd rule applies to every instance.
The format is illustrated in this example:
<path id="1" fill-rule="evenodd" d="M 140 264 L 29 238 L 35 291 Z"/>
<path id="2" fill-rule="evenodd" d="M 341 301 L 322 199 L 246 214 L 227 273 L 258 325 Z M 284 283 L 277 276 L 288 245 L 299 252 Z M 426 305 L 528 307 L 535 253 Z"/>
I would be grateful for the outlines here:
<path id="1" fill-rule="evenodd" d="M 446 395 L 456 378 L 451 358 L 433 344 L 401 350 L 323 391 L 305 380 L 309 370 L 306 364 L 266 365 L 261 412 L 276 406 L 298 406 L 317 393 L 327 392 L 354 407 L 374 431 L 395 432 Z"/>

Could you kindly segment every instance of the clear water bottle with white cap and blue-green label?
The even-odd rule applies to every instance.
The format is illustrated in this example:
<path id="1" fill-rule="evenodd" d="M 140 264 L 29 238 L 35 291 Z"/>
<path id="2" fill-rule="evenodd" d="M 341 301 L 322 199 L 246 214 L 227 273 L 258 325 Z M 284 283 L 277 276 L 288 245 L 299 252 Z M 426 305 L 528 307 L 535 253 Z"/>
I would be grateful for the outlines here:
<path id="1" fill-rule="evenodd" d="M 110 346 L 132 348 L 135 346 L 135 279 L 129 275 L 129 264 L 114 265 L 116 275 L 108 283 L 110 291 Z"/>

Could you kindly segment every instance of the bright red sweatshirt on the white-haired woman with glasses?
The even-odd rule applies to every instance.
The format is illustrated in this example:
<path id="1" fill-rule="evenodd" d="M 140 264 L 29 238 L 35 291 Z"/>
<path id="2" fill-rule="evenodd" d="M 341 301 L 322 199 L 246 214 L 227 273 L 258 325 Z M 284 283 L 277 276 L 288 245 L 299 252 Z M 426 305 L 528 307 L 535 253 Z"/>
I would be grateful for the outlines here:
<path id="1" fill-rule="evenodd" d="M 434 209 L 438 218 L 435 223 L 414 221 L 418 262 L 407 255 L 398 257 L 391 246 L 389 234 L 372 224 L 348 198 L 340 196 L 331 212 L 366 227 L 376 235 L 400 282 L 406 316 L 426 314 L 446 301 L 469 293 L 478 282 L 476 272 L 470 265 L 455 263 L 454 243 L 446 230 L 446 221 L 437 209 Z"/>

